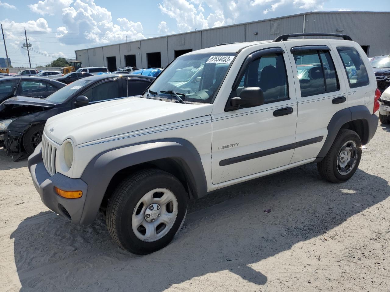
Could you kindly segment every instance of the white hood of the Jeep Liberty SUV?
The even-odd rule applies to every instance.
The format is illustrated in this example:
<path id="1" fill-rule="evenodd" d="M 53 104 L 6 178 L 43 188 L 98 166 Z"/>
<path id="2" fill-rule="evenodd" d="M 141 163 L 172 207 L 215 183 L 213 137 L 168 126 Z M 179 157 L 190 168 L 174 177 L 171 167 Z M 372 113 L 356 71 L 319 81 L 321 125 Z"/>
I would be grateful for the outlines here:
<path id="1" fill-rule="evenodd" d="M 45 134 L 75 145 L 211 114 L 212 104 L 179 104 L 140 97 L 101 102 L 49 118 Z"/>

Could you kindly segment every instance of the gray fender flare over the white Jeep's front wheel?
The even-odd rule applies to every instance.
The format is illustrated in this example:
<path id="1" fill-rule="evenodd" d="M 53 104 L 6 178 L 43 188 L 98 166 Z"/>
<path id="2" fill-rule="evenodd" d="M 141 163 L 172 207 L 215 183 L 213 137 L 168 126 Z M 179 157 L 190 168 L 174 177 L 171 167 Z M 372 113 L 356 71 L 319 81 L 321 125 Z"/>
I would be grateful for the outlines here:
<path id="1" fill-rule="evenodd" d="M 189 141 L 180 138 L 130 144 L 106 150 L 92 158 L 81 179 L 88 185 L 81 223 L 91 223 L 99 211 L 108 184 L 126 167 L 163 158 L 179 163 L 195 198 L 207 192 L 206 176 L 200 155 Z"/>

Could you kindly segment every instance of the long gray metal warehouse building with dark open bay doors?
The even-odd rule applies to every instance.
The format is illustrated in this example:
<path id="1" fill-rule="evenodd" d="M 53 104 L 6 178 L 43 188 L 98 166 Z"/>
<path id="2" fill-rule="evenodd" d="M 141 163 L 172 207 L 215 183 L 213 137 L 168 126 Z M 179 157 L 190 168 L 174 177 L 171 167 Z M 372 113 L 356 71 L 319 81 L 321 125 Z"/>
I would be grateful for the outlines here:
<path id="1" fill-rule="evenodd" d="M 237 25 L 178 33 L 75 51 L 83 67 L 165 67 L 184 53 L 227 42 L 271 40 L 281 34 L 327 32 L 349 35 L 367 56 L 390 54 L 390 12 L 307 12 Z"/>

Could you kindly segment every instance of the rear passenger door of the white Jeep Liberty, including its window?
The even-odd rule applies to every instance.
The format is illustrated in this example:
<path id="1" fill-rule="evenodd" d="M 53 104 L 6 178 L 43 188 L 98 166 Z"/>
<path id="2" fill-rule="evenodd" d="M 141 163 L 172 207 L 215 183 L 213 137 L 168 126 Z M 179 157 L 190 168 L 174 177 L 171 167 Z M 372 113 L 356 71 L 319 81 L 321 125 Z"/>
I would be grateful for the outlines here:
<path id="1" fill-rule="evenodd" d="M 317 157 L 333 115 L 348 106 L 337 52 L 329 42 L 284 42 L 294 73 L 298 99 L 296 149 L 291 163 Z"/>

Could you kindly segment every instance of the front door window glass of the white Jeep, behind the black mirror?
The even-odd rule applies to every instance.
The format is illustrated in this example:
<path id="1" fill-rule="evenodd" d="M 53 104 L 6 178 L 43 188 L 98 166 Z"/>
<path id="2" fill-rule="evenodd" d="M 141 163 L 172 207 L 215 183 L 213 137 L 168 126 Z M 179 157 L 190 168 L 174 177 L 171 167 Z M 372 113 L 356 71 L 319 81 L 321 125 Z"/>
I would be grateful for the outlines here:
<path id="1" fill-rule="evenodd" d="M 273 53 L 253 60 L 239 83 L 237 95 L 246 87 L 260 87 L 264 104 L 289 99 L 283 54 Z"/>

